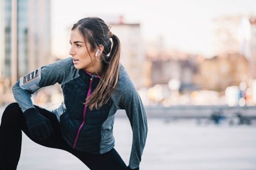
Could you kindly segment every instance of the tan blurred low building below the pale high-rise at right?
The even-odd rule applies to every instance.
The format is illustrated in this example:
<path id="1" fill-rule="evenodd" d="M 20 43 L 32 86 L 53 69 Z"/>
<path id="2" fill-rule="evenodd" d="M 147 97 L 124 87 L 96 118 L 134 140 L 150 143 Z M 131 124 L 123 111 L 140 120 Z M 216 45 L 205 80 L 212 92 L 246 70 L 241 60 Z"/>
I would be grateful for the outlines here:
<path id="1" fill-rule="evenodd" d="M 223 92 L 248 79 L 248 60 L 241 53 L 226 53 L 205 59 L 199 65 L 196 83 L 207 90 Z"/>

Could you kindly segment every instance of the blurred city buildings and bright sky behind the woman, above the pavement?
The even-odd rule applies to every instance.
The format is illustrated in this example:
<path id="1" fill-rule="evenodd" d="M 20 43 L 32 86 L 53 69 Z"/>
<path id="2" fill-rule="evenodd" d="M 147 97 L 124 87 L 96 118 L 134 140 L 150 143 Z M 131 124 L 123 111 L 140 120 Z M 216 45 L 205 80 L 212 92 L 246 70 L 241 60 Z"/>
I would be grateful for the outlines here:
<path id="1" fill-rule="evenodd" d="M 99 16 L 121 39 L 145 106 L 256 105 L 255 0 L 133 2 L 1 0 L 0 104 L 14 101 L 22 75 L 69 57 L 72 24 Z M 60 93 L 45 88 L 36 102 L 55 104 Z"/>

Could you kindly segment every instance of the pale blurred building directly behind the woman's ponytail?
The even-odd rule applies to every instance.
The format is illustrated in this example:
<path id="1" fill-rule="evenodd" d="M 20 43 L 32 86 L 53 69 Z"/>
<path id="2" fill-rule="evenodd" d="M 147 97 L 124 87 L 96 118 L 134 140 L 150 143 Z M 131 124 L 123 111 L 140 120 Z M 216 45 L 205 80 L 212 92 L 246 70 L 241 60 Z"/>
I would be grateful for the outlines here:
<path id="1" fill-rule="evenodd" d="M 108 21 L 108 20 L 107 20 Z M 129 77 L 137 89 L 143 86 L 143 67 L 145 53 L 142 46 L 141 27 L 139 23 L 125 23 L 122 16 L 107 23 L 111 31 L 121 42 L 122 54 L 120 62 L 126 68 Z"/>

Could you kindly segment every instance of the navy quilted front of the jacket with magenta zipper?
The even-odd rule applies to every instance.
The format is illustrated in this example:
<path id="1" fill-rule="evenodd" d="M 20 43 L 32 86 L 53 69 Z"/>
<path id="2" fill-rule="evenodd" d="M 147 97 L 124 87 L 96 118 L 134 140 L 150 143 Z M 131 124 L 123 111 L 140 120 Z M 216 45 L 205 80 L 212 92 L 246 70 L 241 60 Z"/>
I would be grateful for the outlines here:
<path id="1" fill-rule="evenodd" d="M 99 110 L 90 110 L 86 106 L 86 97 L 98 85 L 100 78 L 84 70 L 79 70 L 80 77 L 62 86 L 67 111 L 60 117 L 62 135 L 75 149 L 86 153 L 100 153 L 100 127 L 108 118 L 112 105 L 110 100 Z"/>

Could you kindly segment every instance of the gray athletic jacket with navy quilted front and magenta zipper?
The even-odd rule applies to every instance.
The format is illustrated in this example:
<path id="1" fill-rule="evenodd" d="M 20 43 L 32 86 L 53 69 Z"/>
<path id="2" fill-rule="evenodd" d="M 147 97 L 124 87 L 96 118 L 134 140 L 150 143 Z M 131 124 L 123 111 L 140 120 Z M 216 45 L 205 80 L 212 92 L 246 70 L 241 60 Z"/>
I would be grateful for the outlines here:
<path id="1" fill-rule="evenodd" d="M 57 116 L 63 138 L 77 150 L 103 154 L 114 147 L 114 114 L 118 109 L 125 109 L 133 132 L 129 167 L 139 167 L 147 136 L 147 120 L 141 98 L 122 65 L 116 90 L 108 103 L 98 110 L 90 110 L 83 103 L 100 78 L 76 69 L 71 57 L 45 65 L 40 72 L 41 79 L 35 81 L 33 91 L 21 88 L 19 81 L 13 86 L 14 98 L 23 112 L 34 107 L 31 101 L 33 92 L 55 83 L 61 84 L 64 102 L 52 112 Z"/>

